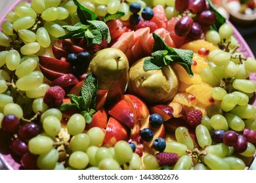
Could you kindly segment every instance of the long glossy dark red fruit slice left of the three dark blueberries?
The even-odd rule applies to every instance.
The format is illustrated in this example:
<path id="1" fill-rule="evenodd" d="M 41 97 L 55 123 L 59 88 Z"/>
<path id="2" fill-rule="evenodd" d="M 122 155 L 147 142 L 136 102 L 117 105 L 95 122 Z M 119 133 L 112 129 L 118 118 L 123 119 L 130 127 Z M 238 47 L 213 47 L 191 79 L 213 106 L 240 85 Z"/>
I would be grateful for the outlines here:
<path id="1" fill-rule="evenodd" d="M 43 67 L 49 68 L 53 71 L 60 73 L 72 73 L 72 67 L 70 63 L 65 61 L 65 59 L 56 59 L 47 56 L 39 56 L 39 64 Z"/>

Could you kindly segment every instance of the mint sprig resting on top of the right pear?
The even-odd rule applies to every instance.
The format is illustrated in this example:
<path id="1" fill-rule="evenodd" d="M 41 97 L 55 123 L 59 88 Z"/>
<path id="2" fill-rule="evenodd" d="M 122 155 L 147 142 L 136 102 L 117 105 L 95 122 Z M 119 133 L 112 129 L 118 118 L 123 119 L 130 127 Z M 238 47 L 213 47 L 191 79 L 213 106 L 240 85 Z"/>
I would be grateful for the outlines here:
<path id="1" fill-rule="evenodd" d="M 155 43 L 153 44 L 153 53 L 151 58 L 144 59 L 144 69 L 157 70 L 165 65 L 179 63 L 190 76 L 194 76 L 191 69 L 193 64 L 192 50 L 183 50 L 179 48 L 171 48 L 161 39 L 159 35 L 153 33 Z"/>

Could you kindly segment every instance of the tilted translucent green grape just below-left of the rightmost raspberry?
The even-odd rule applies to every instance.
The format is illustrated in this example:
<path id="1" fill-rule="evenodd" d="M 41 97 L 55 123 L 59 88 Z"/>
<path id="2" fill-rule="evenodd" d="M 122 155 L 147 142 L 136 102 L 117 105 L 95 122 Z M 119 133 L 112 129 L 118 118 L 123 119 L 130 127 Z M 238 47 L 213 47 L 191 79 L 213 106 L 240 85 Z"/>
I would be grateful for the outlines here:
<path id="1" fill-rule="evenodd" d="M 194 149 L 194 142 L 190 137 L 186 127 L 177 127 L 177 129 L 175 130 L 175 137 L 177 139 L 177 142 L 186 145 L 188 150 Z"/>

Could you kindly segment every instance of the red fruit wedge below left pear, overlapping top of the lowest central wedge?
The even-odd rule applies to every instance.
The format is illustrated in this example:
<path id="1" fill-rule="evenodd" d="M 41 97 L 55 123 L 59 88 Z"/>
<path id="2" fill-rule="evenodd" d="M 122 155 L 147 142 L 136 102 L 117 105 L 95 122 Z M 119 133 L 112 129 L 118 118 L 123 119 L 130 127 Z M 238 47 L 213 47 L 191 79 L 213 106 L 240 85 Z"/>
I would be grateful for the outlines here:
<path id="1" fill-rule="evenodd" d="M 108 108 L 108 114 L 127 125 L 127 127 L 133 129 L 135 124 L 135 114 L 127 101 L 119 100 L 112 104 L 111 107 Z"/>

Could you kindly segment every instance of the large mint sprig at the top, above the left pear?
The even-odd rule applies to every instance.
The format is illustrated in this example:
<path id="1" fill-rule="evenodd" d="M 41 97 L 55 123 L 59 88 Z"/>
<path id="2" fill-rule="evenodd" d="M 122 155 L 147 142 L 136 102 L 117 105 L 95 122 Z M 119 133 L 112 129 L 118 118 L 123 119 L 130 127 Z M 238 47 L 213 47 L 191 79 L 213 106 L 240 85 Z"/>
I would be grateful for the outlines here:
<path id="1" fill-rule="evenodd" d="M 77 0 L 73 1 L 77 6 L 77 16 L 80 22 L 74 26 L 62 26 L 68 33 L 58 37 L 58 39 L 85 38 L 87 39 L 87 46 L 100 44 L 103 38 L 106 39 L 106 42 L 110 43 L 110 31 L 106 22 L 120 18 L 124 13 L 117 12 L 116 14 L 107 14 L 102 20 L 99 20 L 95 12 L 89 10 L 89 8 L 83 7 Z"/>

